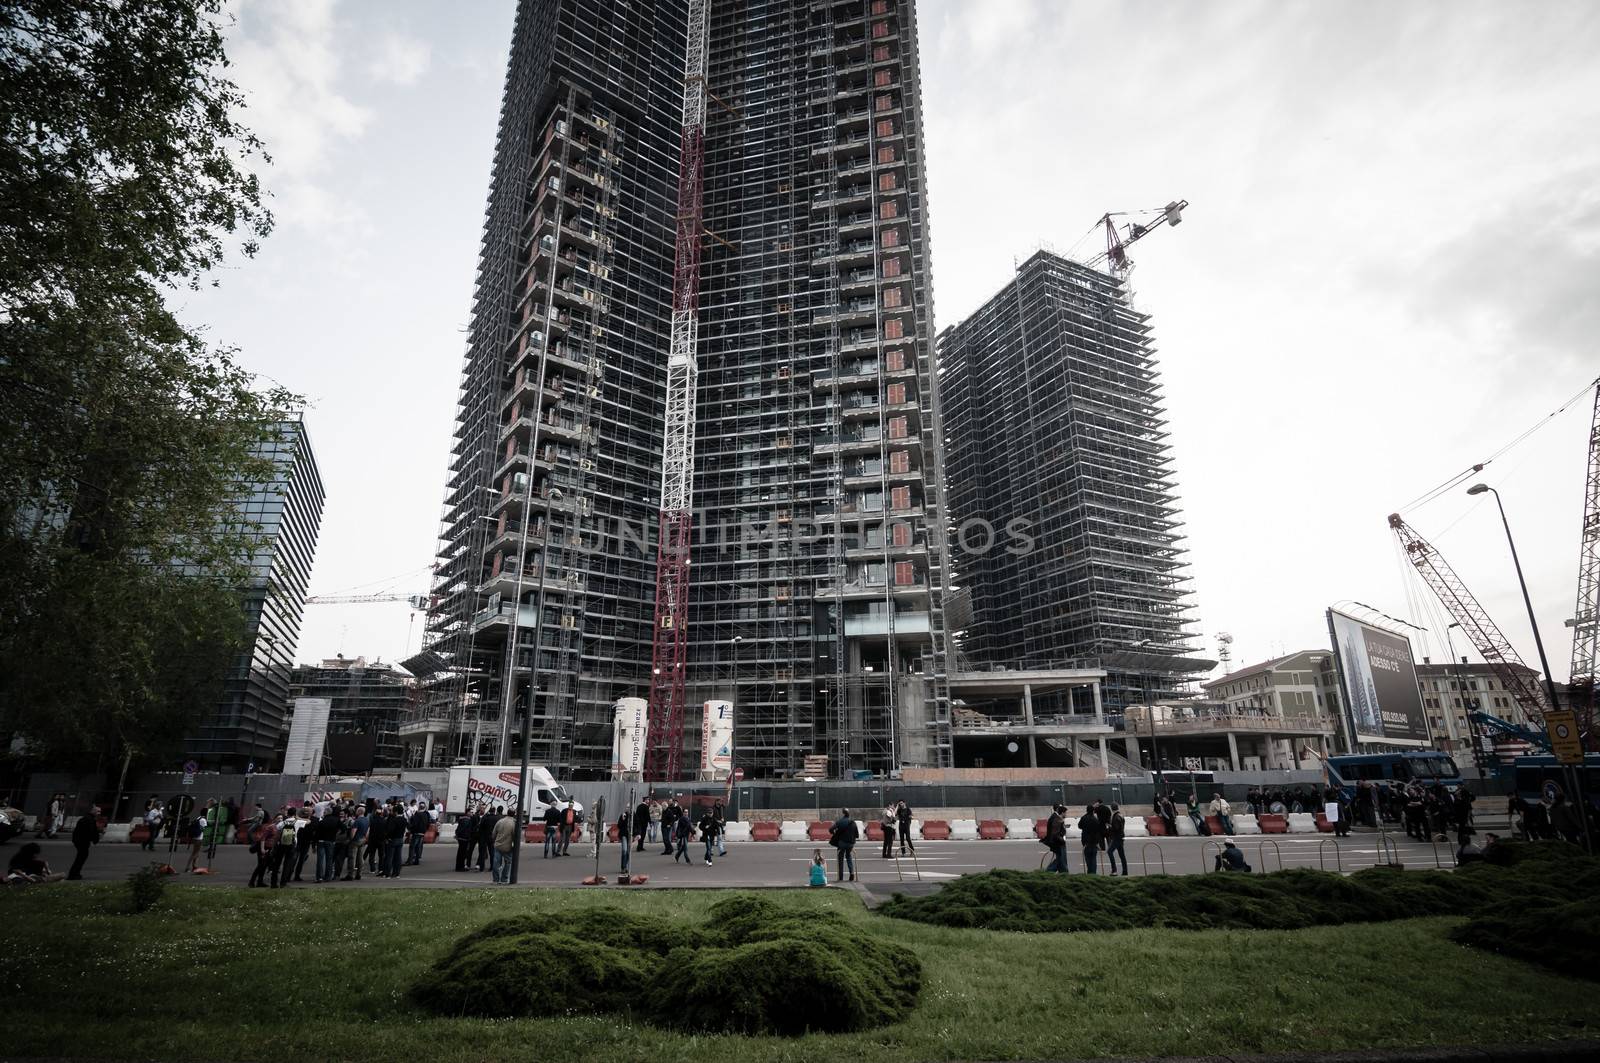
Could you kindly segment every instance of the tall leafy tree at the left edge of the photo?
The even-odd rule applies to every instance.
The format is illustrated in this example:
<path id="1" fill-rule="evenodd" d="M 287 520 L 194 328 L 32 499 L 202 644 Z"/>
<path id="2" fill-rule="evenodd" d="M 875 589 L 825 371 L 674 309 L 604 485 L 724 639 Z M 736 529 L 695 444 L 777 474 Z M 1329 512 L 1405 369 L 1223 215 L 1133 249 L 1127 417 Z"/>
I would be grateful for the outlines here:
<path id="1" fill-rule="evenodd" d="M 272 227 L 222 0 L 0 0 L 0 733 L 171 752 L 240 648 L 298 399 L 166 309 Z"/>

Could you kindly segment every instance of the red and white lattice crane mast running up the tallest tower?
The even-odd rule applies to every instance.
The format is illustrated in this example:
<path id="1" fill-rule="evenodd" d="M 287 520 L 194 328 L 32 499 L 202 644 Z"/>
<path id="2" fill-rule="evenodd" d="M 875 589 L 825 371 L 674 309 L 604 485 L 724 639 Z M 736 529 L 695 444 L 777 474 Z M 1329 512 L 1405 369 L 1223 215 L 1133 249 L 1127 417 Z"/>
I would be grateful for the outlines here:
<path id="1" fill-rule="evenodd" d="M 678 139 L 672 338 L 667 349 L 667 407 L 661 440 L 656 623 L 650 674 L 650 741 L 645 756 L 646 775 L 661 780 L 678 776 L 686 700 L 709 6 L 709 0 L 690 0 L 683 48 L 683 130 Z"/>

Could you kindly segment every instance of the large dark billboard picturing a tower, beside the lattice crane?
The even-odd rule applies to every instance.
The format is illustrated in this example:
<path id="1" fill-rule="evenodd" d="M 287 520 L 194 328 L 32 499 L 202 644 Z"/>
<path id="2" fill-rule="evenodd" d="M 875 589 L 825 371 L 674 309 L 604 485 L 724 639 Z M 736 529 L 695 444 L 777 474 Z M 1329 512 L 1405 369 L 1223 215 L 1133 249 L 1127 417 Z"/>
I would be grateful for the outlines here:
<path id="1" fill-rule="evenodd" d="M 1334 610 L 1328 610 L 1328 631 L 1355 741 L 1427 746 L 1411 640 Z"/>

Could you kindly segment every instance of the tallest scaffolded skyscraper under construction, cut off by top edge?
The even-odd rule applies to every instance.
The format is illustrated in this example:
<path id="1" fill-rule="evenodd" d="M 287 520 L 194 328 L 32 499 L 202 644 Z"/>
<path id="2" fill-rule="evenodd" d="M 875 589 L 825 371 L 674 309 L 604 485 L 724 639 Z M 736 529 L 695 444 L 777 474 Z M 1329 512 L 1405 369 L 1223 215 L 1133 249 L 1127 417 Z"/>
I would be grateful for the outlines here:
<path id="1" fill-rule="evenodd" d="M 752 776 L 950 760 L 912 2 L 523 0 L 413 764 L 517 756 L 531 703 L 534 760 L 600 775 L 651 692 L 698 19 L 683 733 L 728 700 Z"/>

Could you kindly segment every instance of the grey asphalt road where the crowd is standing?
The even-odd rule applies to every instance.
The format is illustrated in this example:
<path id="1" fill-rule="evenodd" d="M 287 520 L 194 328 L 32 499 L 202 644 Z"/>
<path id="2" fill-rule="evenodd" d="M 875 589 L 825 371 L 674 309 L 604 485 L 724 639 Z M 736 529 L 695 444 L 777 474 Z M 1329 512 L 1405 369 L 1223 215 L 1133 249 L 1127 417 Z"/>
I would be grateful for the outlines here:
<path id="1" fill-rule="evenodd" d="M 1395 847 L 1395 855 L 1406 868 L 1434 868 L 1435 847 L 1426 842 L 1414 842 L 1403 834 L 1389 834 L 1389 842 Z M 0 853 L 14 852 L 29 839 L 14 839 L 0 847 Z M 1323 845 L 1323 842 L 1328 842 Z M 1334 840 L 1326 834 L 1277 834 L 1267 839 L 1240 837 L 1240 848 L 1256 871 L 1283 868 L 1318 868 L 1328 871 L 1336 864 L 1344 871 L 1358 871 L 1381 863 L 1381 839 L 1376 832 L 1357 832 L 1352 837 Z M 699 856 L 702 845 L 691 845 L 696 855 L 693 864 L 674 863 L 661 853 L 661 847 L 648 847 L 643 853 L 635 853 L 632 861 L 634 874 L 650 876 L 651 887 L 773 887 L 803 885 L 806 868 L 811 863 L 811 852 L 821 847 L 829 861 L 829 880 L 834 879 L 834 850 L 822 844 L 797 842 L 741 842 L 728 848 L 728 855 L 718 858 L 715 866 L 707 868 Z M 43 842 L 45 860 L 54 871 L 66 871 L 72 864 L 72 844 L 66 840 Z M 875 895 L 888 895 L 894 890 L 926 892 L 933 884 L 946 882 L 962 874 L 981 872 L 990 868 L 1037 869 L 1048 856 L 1045 847 L 1034 840 L 981 840 L 981 842 L 922 842 L 917 847 L 917 860 L 883 860 L 875 842 L 862 842 L 856 847 L 856 874 L 861 884 Z M 1160 874 L 1165 868 L 1168 874 L 1195 874 L 1210 871 L 1211 855 L 1216 842 L 1202 837 L 1178 839 L 1128 839 L 1128 861 L 1133 874 Z M 600 856 L 600 874 L 616 879 L 618 847 L 606 844 Z M 1072 872 L 1083 871 L 1083 850 L 1069 844 Z M 456 847 L 453 842 L 440 840 L 429 845 L 418 868 L 403 868 L 398 879 L 379 879 L 363 876 L 360 882 L 338 882 L 326 889 L 395 889 L 395 887 L 478 887 L 488 885 L 488 872 L 454 871 Z M 168 853 L 166 844 L 157 845 L 155 853 L 149 853 L 131 844 L 102 844 L 90 853 L 85 866 L 85 880 L 120 880 L 131 871 L 162 860 L 173 866 L 184 866 L 187 852 Z M 206 885 L 243 885 L 254 869 L 256 858 L 243 845 L 224 845 L 218 848 L 213 863 L 214 874 L 210 876 L 178 876 L 186 882 Z M 1101 855 L 1104 869 L 1104 855 Z M 1437 861 L 1451 866 L 1451 847 L 1440 844 Z M 304 885 L 310 882 L 315 858 L 307 860 Z M 571 855 L 565 858 L 546 860 L 539 845 L 523 848 L 520 869 L 522 885 L 562 887 L 579 885 L 584 876 L 592 874 L 594 858 L 589 847 L 573 845 Z M 917 889 L 917 884 L 922 884 Z"/>

